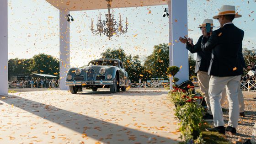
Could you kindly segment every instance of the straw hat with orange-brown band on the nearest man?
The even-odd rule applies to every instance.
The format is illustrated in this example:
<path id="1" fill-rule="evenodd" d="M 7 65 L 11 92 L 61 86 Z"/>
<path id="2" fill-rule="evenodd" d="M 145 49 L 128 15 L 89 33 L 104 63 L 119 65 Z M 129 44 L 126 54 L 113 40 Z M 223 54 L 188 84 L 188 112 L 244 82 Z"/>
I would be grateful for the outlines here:
<path id="1" fill-rule="evenodd" d="M 235 13 L 235 6 L 233 5 L 222 5 L 219 10 L 219 14 L 217 16 L 213 16 L 213 18 L 217 19 L 219 16 L 222 15 L 235 15 L 235 18 L 241 17 L 241 15 Z"/>

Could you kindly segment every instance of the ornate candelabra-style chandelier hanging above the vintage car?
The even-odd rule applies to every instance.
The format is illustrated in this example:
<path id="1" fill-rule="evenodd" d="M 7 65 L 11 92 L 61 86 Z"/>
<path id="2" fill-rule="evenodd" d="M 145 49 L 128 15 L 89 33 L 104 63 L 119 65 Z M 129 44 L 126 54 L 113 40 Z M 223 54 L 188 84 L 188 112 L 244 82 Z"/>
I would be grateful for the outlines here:
<path id="1" fill-rule="evenodd" d="M 123 24 L 122 24 L 122 18 L 121 14 L 119 13 L 119 22 L 114 21 L 114 11 L 112 11 L 112 14 L 110 13 L 110 8 L 111 8 L 111 2 L 112 0 L 106 0 L 107 1 L 107 9 L 108 9 L 108 14 L 105 14 L 106 16 L 106 21 L 101 21 L 101 13 L 100 13 L 100 19 L 98 16 L 98 23 L 96 29 L 93 27 L 93 20 L 91 19 L 91 32 L 93 34 L 104 34 L 106 35 L 109 40 L 110 37 L 113 35 L 121 35 L 127 32 L 128 29 L 128 22 L 127 22 L 127 17 L 126 17 L 126 22 L 125 22 L 125 28 L 123 29 Z"/>

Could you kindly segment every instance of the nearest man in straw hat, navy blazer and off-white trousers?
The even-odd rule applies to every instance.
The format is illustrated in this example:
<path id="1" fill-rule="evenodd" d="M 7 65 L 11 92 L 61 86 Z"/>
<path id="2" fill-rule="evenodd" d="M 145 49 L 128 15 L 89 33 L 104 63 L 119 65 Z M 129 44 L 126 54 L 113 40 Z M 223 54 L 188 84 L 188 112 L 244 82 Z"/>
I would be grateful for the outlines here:
<path id="1" fill-rule="evenodd" d="M 210 131 L 217 131 L 225 134 L 225 130 L 236 133 L 239 119 L 238 85 L 243 66 L 241 61 L 242 41 L 244 31 L 235 27 L 232 23 L 234 18 L 241 17 L 235 13 L 235 6 L 223 5 L 219 14 L 213 16 L 219 20 L 220 27 L 213 31 L 209 40 L 204 30 L 202 39 L 202 50 L 212 50 L 212 59 L 208 69 L 210 75 L 209 96 L 211 110 L 213 113 L 214 128 Z M 224 127 L 223 113 L 220 106 L 221 92 L 226 86 L 229 100 L 229 123 Z"/>

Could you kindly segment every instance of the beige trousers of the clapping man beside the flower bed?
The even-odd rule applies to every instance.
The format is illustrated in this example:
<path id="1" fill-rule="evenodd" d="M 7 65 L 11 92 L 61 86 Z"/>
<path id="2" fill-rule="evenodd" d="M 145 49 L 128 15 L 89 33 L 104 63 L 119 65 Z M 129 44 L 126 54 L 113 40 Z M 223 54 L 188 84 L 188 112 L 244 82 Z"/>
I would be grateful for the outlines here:
<path id="1" fill-rule="evenodd" d="M 204 71 L 198 71 L 197 72 L 197 79 L 200 86 L 200 90 L 203 93 L 204 99 L 207 104 L 207 112 L 212 115 L 211 106 L 210 106 L 210 99 L 209 99 L 209 81 L 210 81 L 210 75 L 207 74 L 207 72 Z"/>

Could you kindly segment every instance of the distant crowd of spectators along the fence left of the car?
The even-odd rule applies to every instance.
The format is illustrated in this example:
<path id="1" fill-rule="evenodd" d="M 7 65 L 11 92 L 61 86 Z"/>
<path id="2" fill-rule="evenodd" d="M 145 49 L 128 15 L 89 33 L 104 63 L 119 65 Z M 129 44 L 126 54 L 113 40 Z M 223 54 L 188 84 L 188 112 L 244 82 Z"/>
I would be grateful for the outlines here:
<path id="1" fill-rule="evenodd" d="M 59 88 L 58 79 L 32 79 L 8 81 L 9 88 Z"/>

